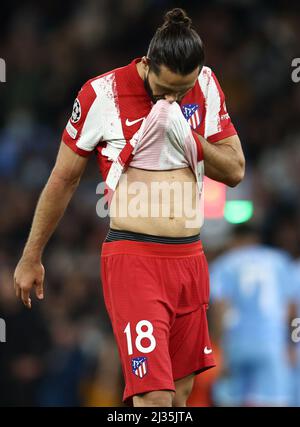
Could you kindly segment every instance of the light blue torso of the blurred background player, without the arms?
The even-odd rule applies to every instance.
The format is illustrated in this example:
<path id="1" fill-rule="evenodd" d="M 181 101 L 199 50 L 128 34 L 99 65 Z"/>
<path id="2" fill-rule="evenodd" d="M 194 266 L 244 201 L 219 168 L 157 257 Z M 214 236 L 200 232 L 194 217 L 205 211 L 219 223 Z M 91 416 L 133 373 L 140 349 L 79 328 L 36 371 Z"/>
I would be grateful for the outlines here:
<path id="1" fill-rule="evenodd" d="M 232 272 L 228 337 L 236 342 L 248 339 L 249 343 L 262 343 L 264 348 L 278 346 L 285 339 L 288 311 L 280 256 L 253 245 L 232 251 L 227 263 Z"/>

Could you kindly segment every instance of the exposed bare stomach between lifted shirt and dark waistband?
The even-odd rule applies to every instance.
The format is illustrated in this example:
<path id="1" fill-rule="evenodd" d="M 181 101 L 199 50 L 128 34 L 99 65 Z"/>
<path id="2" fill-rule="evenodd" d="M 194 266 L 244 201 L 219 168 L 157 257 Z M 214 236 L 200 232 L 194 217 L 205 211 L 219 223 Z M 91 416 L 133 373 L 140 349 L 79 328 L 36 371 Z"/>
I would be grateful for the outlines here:
<path id="1" fill-rule="evenodd" d="M 166 237 L 200 231 L 202 216 L 194 173 L 189 167 L 150 171 L 129 167 L 110 207 L 110 227 Z"/>

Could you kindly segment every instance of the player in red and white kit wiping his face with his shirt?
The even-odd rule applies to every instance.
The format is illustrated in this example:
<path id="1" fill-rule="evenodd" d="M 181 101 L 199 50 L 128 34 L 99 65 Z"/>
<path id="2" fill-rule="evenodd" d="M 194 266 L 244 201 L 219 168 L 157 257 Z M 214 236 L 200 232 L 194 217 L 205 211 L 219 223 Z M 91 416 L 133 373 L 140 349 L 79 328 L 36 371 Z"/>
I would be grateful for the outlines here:
<path id="1" fill-rule="evenodd" d="M 194 375 L 214 366 L 203 218 L 185 206 L 201 197 L 203 166 L 210 178 L 235 186 L 244 156 L 224 93 L 203 62 L 191 19 L 173 9 L 147 56 L 81 88 L 15 271 L 16 293 L 30 307 L 33 287 L 43 298 L 43 249 L 96 153 L 115 207 L 101 254 L 103 293 L 123 399 L 134 406 L 185 406 Z M 176 191 L 163 197 L 154 191 L 160 185 Z M 143 215 L 131 212 L 138 187 Z"/>

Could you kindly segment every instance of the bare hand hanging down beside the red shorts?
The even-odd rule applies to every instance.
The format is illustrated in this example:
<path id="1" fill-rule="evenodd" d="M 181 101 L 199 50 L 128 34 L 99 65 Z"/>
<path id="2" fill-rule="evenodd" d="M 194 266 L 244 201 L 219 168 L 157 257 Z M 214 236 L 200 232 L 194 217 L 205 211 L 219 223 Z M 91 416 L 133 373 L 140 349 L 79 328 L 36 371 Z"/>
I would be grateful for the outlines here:
<path id="1" fill-rule="evenodd" d="M 45 269 L 40 261 L 21 258 L 14 274 L 14 288 L 17 298 L 21 298 L 27 308 L 31 308 L 30 292 L 35 288 L 38 299 L 44 298 Z"/>

